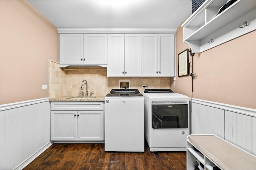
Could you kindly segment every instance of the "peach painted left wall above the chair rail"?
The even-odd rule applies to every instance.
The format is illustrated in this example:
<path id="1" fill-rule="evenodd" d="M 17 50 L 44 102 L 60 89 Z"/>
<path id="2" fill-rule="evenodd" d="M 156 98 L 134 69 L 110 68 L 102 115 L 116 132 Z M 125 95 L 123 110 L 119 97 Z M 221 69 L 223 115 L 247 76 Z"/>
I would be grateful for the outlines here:
<path id="1" fill-rule="evenodd" d="M 48 97 L 58 30 L 26 0 L 0 0 L 0 104 Z"/>

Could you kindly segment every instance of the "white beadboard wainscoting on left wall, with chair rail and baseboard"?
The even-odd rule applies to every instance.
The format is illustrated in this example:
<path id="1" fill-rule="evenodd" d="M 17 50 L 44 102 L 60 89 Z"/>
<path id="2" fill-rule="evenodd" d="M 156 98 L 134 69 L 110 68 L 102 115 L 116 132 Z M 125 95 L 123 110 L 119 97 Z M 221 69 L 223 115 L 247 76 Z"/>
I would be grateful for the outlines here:
<path id="1" fill-rule="evenodd" d="M 0 170 L 22 169 L 50 145 L 49 98 L 0 106 Z"/>

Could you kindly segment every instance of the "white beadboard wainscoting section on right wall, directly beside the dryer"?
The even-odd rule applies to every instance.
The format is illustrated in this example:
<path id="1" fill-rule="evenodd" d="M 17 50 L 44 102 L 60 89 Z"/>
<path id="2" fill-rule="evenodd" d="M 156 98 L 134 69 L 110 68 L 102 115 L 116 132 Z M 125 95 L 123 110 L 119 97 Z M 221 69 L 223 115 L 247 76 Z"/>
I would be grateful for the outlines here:
<path id="1" fill-rule="evenodd" d="M 224 110 L 190 103 L 190 133 L 215 134 L 224 138 Z"/>

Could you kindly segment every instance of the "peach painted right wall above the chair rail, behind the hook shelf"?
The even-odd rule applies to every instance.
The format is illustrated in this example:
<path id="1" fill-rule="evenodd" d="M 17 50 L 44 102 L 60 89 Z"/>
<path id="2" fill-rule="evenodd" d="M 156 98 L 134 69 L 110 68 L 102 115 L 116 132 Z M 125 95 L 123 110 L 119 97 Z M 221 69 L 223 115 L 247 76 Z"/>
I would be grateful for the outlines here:
<path id="1" fill-rule="evenodd" d="M 178 53 L 190 47 L 183 43 L 183 28 L 176 32 Z M 194 92 L 191 76 L 178 77 L 175 92 L 191 98 L 256 109 L 256 31 L 194 55 Z M 191 57 L 190 57 L 191 61 Z M 171 87 L 174 86 L 171 80 Z"/>

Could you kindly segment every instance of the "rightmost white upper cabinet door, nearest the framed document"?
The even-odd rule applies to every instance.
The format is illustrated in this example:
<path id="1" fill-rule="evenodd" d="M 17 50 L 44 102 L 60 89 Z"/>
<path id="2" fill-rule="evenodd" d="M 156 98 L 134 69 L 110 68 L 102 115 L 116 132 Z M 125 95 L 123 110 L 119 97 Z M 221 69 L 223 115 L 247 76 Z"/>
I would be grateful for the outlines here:
<path id="1" fill-rule="evenodd" d="M 158 76 L 175 75 L 174 57 L 174 35 L 158 34 Z"/>

